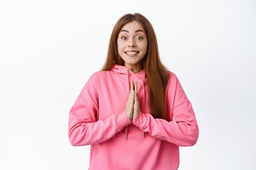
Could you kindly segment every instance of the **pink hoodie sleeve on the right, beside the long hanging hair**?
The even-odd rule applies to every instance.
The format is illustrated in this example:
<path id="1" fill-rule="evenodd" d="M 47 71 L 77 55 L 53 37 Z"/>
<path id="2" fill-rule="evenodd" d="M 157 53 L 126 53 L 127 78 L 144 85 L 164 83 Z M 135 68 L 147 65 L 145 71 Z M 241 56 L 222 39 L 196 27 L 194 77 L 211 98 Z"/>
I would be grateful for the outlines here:
<path id="1" fill-rule="evenodd" d="M 166 104 L 169 108 L 167 116 L 171 121 L 155 119 L 152 115 L 140 111 L 132 123 L 153 137 L 178 146 L 193 146 L 198 140 L 199 129 L 192 104 L 186 97 L 177 77 L 175 83 L 172 85 L 169 83 L 167 88 L 171 88 L 167 89 L 166 93 Z M 174 90 L 172 91 L 172 89 Z"/>

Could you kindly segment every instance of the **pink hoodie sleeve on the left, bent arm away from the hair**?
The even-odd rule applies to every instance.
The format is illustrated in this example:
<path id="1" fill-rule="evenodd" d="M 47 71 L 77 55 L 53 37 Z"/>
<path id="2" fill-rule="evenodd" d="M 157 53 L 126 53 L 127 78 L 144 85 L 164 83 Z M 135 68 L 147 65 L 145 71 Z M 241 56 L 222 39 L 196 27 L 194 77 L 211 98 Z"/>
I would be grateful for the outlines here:
<path id="1" fill-rule="evenodd" d="M 70 109 L 68 137 L 72 146 L 101 143 L 132 123 L 125 111 L 104 121 L 97 121 L 98 113 L 97 77 L 92 75 Z"/>

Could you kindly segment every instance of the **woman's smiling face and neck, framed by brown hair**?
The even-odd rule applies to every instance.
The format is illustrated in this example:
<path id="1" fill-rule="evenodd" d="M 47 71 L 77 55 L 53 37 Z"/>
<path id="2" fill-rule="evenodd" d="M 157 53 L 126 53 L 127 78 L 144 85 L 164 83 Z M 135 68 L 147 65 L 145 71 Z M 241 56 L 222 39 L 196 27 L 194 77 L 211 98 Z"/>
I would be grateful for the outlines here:
<path id="1" fill-rule="evenodd" d="M 118 53 L 127 68 L 140 68 L 140 61 L 146 54 L 148 40 L 146 33 L 137 21 L 132 21 L 123 26 L 118 38 Z"/>

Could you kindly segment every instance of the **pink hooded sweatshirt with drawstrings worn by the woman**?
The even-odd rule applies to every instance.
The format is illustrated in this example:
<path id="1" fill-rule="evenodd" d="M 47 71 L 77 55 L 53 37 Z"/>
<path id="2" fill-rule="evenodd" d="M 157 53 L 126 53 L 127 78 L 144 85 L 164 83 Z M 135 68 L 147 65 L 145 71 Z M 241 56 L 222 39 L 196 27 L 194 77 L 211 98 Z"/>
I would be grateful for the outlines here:
<path id="1" fill-rule="evenodd" d="M 141 108 L 132 121 L 124 111 L 131 79 Z M 177 76 L 170 72 L 167 120 L 150 115 L 147 88 L 144 69 L 117 64 L 88 79 L 70 110 L 68 137 L 72 146 L 91 145 L 89 170 L 177 170 L 179 146 L 195 145 L 198 124 Z"/>

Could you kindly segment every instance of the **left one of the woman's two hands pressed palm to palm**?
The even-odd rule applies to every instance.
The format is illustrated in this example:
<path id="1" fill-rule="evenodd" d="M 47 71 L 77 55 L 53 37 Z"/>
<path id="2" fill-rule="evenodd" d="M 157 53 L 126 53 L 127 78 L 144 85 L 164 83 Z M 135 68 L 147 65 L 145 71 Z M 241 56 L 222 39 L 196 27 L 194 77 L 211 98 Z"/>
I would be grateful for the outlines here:
<path id="1" fill-rule="evenodd" d="M 134 91 L 134 83 L 133 83 L 133 81 L 131 80 L 130 82 L 131 82 L 130 95 L 129 95 L 129 98 L 128 98 L 127 102 L 126 102 L 125 113 L 128 116 L 128 118 L 130 120 L 132 120 L 135 91 Z"/>

